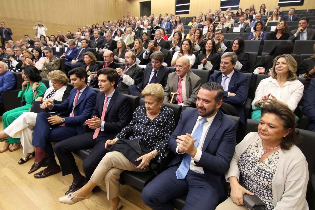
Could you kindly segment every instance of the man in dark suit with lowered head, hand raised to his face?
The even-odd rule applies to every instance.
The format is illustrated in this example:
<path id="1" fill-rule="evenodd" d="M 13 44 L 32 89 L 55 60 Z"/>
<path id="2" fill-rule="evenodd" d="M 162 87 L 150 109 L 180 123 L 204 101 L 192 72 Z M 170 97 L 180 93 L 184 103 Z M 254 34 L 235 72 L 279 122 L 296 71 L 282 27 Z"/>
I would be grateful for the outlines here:
<path id="1" fill-rule="evenodd" d="M 167 66 L 171 65 L 172 56 L 171 56 L 170 51 L 167 49 L 161 48 L 156 40 L 150 41 L 148 48 L 146 49 L 145 53 L 143 54 L 143 59 L 144 59 L 143 62 L 145 64 L 151 62 L 150 56 L 155 51 L 161 51 L 163 53 L 163 56 L 164 56 L 164 62 L 167 64 Z"/>

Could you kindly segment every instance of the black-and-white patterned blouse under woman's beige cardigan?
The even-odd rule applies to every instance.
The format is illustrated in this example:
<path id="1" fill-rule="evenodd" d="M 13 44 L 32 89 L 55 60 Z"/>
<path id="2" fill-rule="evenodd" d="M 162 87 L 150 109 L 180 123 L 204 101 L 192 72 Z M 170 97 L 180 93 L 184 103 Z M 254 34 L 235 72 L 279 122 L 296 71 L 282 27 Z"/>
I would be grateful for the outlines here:
<path id="1" fill-rule="evenodd" d="M 243 185 L 264 201 L 266 204 L 265 210 L 273 209 L 272 178 L 277 169 L 279 156 L 282 153 L 281 149 L 273 152 L 259 163 L 264 150 L 261 139 L 257 138 L 238 160 L 238 167 L 243 177 Z"/>

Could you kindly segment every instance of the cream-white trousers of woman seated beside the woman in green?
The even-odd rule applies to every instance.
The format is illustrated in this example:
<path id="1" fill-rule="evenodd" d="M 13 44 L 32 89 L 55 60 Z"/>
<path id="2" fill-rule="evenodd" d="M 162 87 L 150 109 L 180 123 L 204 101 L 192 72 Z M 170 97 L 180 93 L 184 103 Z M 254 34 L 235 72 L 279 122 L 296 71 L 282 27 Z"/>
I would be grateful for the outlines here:
<path id="1" fill-rule="evenodd" d="M 23 146 L 23 154 L 32 153 L 35 147 L 32 145 L 33 128 L 36 123 L 37 113 L 23 112 L 16 118 L 4 132 L 12 138 L 21 138 L 21 145 Z"/>

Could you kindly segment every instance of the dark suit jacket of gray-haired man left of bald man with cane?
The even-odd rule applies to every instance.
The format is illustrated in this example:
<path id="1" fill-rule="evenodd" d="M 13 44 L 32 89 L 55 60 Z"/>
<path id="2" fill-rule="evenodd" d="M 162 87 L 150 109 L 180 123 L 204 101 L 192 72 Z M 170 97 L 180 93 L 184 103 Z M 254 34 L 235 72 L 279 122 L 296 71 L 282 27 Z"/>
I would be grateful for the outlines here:
<path id="1" fill-rule="evenodd" d="M 138 88 L 142 91 L 146 85 L 149 82 L 150 75 L 152 71 L 152 66 L 148 66 L 144 69 L 143 71 L 143 77 L 141 79 L 141 82 L 138 85 Z M 167 77 L 169 76 L 169 68 L 165 66 L 161 66 L 161 68 L 157 72 L 157 77 L 156 77 L 156 83 L 159 83 L 163 86 L 163 88 L 166 85 L 167 82 Z"/>

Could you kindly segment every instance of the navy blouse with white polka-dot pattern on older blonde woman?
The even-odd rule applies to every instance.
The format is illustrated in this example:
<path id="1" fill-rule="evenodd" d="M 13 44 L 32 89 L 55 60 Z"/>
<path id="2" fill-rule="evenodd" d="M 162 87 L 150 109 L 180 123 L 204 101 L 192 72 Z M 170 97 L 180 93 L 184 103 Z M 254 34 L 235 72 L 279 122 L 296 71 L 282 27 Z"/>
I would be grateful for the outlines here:
<path id="1" fill-rule="evenodd" d="M 163 159 L 168 140 L 175 129 L 173 110 L 162 106 L 153 120 L 146 115 L 146 107 L 136 108 L 129 125 L 116 135 L 118 139 L 142 139 L 150 151 L 157 150 L 157 158 Z"/>

